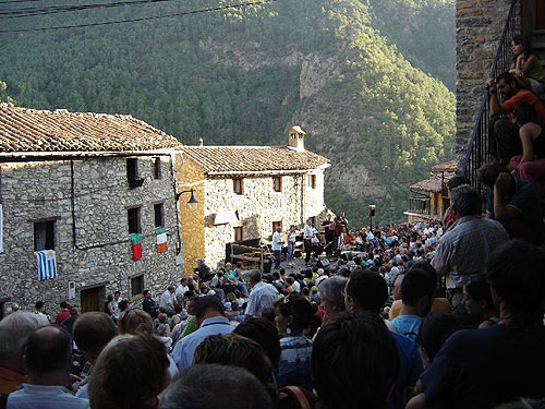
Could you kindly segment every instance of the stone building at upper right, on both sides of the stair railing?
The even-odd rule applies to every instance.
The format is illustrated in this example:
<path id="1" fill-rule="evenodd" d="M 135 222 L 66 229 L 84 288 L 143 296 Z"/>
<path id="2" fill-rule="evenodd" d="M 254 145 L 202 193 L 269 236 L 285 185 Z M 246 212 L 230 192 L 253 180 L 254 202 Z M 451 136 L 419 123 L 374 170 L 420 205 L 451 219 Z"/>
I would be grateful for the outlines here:
<path id="1" fill-rule="evenodd" d="M 456 143 L 468 147 L 512 0 L 456 1 Z M 533 36 L 545 60 L 545 0 L 516 2 L 516 33 Z M 536 47 L 537 46 L 537 47 Z M 510 45 L 508 45 L 510 49 Z"/>

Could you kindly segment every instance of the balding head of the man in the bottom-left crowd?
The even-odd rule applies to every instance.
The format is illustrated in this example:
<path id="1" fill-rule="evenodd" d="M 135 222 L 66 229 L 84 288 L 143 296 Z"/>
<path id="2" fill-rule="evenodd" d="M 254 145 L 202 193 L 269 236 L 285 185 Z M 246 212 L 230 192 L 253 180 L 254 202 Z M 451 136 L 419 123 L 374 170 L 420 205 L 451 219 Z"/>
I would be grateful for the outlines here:
<path id="1" fill-rule="evenodd" d="M 66 373 L 72 362 L 69 333 L 57 326 L 36 329 L 28 337 L 25 364 L 29 375 Z"/>

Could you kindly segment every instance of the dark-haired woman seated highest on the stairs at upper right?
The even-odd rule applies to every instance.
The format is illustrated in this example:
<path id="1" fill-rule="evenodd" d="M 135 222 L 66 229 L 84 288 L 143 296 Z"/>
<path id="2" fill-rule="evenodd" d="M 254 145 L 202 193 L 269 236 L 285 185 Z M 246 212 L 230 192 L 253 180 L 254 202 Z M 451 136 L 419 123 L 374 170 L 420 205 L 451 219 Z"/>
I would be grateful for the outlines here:
<path id="1" fill-rule="evenodd" d="M 525 88 L 535 95 L 545 92 L 545 73 L 543 72 L 540 56 L 532 51 L 530 38 L 514 36 L 511 43 L 513 60 L 509 72 L 513 74 Z"/>

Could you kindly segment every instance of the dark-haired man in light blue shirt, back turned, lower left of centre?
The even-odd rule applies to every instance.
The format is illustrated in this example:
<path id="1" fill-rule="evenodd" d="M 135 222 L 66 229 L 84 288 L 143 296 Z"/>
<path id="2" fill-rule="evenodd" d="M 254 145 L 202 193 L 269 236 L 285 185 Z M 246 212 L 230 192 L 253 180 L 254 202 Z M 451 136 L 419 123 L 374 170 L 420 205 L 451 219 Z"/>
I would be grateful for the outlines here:
<path id="1" fill-rule="evenodd" d="M 172 358 L 181 370 L 193 363 L 193 356 L 198 345 L 210 335 L 230 334 L 234 327 L 223 313 L 223 305 L 216 296 L 201 297 L 195 300 L 195 321 L 198 329 L 179 341 L 172 351 Z"/>

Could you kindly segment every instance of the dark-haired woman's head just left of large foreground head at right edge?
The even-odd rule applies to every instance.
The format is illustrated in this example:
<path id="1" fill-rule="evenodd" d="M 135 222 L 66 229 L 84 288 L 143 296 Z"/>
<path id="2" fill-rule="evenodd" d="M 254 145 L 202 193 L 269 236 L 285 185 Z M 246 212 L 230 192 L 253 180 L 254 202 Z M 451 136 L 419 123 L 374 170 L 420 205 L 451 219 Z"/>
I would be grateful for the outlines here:
<path id="1" fill-rule="evenodd" d="M 492 300 L 491 286 L 484 277 L 472 278 L 463 287 L 462 305 L 471 317 L 479 320 L 480 328 L 495 325 L 499 321 Z"/>

